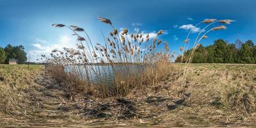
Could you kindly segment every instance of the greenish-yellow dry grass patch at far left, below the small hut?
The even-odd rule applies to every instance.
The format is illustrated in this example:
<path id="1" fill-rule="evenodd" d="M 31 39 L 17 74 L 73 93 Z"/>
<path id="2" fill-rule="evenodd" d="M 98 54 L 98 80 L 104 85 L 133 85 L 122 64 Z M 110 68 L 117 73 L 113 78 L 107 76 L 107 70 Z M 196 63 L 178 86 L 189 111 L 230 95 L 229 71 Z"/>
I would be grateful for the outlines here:
<path id="1" fill-rule="evenodd" d="M 28 92 L 40 65 L 0 65 L 0 112 L 24 115 L 28 107 Z"/>

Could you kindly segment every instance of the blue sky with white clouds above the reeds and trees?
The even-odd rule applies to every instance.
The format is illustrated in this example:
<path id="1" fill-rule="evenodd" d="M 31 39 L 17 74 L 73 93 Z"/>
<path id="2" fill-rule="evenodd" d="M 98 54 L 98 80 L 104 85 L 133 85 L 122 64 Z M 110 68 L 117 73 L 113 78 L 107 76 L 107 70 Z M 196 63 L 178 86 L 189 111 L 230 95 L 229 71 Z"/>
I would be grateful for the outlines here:
<path id="1" fill-rule="evenodd" d="M 228 29 L 211 31 L 200 44 L 211 45 L 222 38 L 229 43 L 237 39 L 256 40 L 255 0 L 0 0 L 0 46 L 23 45 L 29 61 L 53 49 L 76 47 L 76 37 L 67 28 L 54 28 L 54 23 L 84 28 L 93 44 L 102 44 L 102 31 L 108 35 L 111 26 L 100 22 L 100 15 L 110 19 L 118 30 L 128 28 L 129 33 L 164 33 L 159 38 L 168 42 L 171 51 L 179 53 L 189 35 L 189 47 L 207 24 L 204 19 L 232 19 Z M 209 29 L 223 24 L 213 24 Z M 205 31 L 204 31 L 205 32 Z M 161 46 L 163 47 L 163 46 Z M 188 47 L 188 48 L 189 48 Z"/>

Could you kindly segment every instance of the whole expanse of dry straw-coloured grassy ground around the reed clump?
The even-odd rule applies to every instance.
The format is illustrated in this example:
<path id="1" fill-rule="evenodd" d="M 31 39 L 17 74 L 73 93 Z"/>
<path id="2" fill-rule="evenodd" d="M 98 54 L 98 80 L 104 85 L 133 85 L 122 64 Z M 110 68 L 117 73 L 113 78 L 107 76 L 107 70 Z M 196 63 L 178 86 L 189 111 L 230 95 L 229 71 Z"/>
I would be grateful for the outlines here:
<path id="1" fill-rule="evenodd" d="M 68 100 L 63 96 L 66 94 L 61 92 L 61 86 L 58 91 L 49 89 L 54 86 L 52 83 L 47 85 L 44 91 L 34 95 L 38 92 L 34 88 L 35 77 L 45 77 L 45 74 L 42 74 L 43 66 L 0 65 L 0 113 L 31 117 L 33 112 L 30 111 L 30 116 L 28 114 L 32 107 L 31 100 L 44 100 L 42 106 L 56 105 L 51 108 L 38 105 L 44 113 L 37 113 L 37 118 L 43 115 L 48 118 L 48 115 L 54 116 L 52 113 L 56 113 L 45 111 L 61 111 L 60 115 L 55 115 L 49 120 L 62 120 L 63 115 L 65 118 L 79 115 L 83 121 L 103 124 L 118 122 L 173 126 L 255 125 L 256 65 L 191 64 L 186 97 L 179 99 L 177 85 L 182 76 L 181 66 L 172 65 L 170 70 L 166 70 L 168 75 L 161 78 L 161 82 L 140 90 L 135 88 L 122 99 L 100 99 L 77 94 L 72 100 Z M 47 79 L 41 81 L 44 83 Z M 63 108 L 66 109 L 62 110 Z"/>

